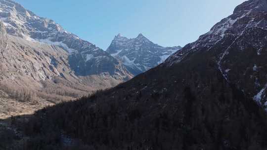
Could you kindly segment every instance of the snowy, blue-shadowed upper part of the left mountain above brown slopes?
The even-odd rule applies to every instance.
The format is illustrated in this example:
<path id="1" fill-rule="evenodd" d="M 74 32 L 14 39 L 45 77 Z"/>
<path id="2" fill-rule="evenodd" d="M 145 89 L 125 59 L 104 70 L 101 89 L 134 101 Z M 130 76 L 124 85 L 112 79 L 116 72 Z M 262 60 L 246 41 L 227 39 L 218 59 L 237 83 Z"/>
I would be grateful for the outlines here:
<path id="1" fill-rule="evenodd" d="M 77 75 L 115 75 L 117 68 L 122 69 L 121 64 L 107 52 L 11 0 L 0 0 L 0 20 L 10 35 L 65 49 L 70 56 L 70 67 Z"/>

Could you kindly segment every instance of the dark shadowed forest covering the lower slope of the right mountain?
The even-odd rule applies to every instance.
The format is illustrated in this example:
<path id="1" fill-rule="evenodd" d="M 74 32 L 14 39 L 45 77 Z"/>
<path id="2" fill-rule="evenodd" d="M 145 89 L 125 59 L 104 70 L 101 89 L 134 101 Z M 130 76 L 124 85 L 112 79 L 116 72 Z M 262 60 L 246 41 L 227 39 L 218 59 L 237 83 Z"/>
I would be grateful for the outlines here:
<path id="1" fill-rule="evenodd" d="M 37 112 L 23 150 L 265 150 L 266 112 L 206 58 Z"/>

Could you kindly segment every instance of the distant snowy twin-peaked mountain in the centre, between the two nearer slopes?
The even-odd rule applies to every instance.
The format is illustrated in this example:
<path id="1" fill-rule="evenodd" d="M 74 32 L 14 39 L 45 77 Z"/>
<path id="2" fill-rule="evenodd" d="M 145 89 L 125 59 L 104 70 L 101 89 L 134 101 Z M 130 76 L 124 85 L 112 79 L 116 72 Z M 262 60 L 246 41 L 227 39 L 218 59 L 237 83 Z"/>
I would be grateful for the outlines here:
<path id="1" fill-rule="evenodd" d="M 121 60 L 132 74 L 138 75 L 161 64 L 179 49 L 180 46 L 163 47 L 154 44 L 142 34 L 130 39 L 119 34 L 113 39 L 107 52 Z"/>

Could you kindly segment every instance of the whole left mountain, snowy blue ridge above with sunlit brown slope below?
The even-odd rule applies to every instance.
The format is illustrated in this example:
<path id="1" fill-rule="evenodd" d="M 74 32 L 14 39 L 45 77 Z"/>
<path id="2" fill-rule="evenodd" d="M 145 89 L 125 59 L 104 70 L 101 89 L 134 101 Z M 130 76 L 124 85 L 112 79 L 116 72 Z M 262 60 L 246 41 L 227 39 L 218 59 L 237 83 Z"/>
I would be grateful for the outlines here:
<path id="1" fill-rule="evenodd" d="M 133 76 L 106 51 L 12 0 L 0 0 L 0 21 L 5 35 L 1 41 L 6 44 L 1 49 L 1 82 L 31 81 L 39 88 L 52 82 L 88 91 L 112 87 Z"/>

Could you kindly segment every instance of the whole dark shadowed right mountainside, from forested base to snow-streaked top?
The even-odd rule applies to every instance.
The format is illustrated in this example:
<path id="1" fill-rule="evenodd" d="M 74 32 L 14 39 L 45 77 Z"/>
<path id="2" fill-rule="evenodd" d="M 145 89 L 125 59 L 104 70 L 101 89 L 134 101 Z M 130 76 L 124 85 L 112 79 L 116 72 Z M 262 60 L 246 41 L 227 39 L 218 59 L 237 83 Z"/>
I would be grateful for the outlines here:
<path id="1" fill-rule="evenodd" d="M 266 15 L 267 0 L 248 0 L 160 66 L 37 112 L 28 148 L 60 145 L 63 130 L 81 149 L 266 150 Z"/>

